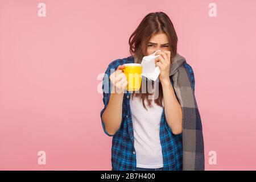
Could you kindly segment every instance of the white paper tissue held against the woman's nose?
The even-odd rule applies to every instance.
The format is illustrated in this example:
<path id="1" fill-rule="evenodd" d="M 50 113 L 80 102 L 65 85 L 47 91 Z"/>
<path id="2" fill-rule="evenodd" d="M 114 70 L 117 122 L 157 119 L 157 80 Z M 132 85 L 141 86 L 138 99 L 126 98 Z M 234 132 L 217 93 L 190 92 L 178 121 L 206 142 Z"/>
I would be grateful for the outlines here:
<path id="1" fill-rule="evenodd" d="M 155 66 L 155 59 L 160 56 L 160 55 L 155 56 L 155 53 L 159 52 L 159 51 L 160 50 L 155 51 L 154 53 L 152 53 L 149 56 L 144 56 L 141 61 L 142 76 L 144 76 L 150 80 L 153 80 L 153 81 L 156 81 L 156 79 L 158 78 L 158 76 L 160 74 L 159 67 Z"/>

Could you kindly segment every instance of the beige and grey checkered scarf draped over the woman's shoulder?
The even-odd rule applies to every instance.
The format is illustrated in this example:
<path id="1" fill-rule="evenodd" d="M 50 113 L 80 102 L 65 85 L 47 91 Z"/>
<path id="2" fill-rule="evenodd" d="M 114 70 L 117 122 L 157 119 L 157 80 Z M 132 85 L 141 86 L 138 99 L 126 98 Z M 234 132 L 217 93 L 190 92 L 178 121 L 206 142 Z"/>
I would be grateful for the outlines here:
<path id="1" fill-rule="evenodd" d="M 170 76 L 183 114 L 183 171 L 204 170 L 204 138 L 195 93 L 184 68 L 184 57 L 176 54 L 172 58 Z"/>

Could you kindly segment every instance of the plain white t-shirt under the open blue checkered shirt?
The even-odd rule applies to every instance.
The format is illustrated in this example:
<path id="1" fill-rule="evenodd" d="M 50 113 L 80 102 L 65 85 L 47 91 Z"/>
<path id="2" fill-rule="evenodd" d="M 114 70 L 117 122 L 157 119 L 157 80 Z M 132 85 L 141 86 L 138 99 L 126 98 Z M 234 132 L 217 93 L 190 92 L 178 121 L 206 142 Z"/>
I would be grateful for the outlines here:
<path id="1" fill-rule="evenodd" d="M 156 105 L 154 100 L 151 104 L 153 107 L 148 106 L 145 100 L 146 110 L 139 97 L 130 98 L 137 167 L 141 168 L 163 167 L 159 136 L 163 107 Z"/>

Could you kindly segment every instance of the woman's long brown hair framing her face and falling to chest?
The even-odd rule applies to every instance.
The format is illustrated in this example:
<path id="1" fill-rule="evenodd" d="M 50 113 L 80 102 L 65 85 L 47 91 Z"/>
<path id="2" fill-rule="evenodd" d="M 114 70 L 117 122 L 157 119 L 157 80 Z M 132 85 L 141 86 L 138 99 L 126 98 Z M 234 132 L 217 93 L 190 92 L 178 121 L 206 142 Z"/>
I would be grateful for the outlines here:
<path id="1" fill-rule="evenodd" d="M 170 51 L 171 58 L 174 57 L 177 53 L 177 35 L 174 29 L 174 25 L 171 22 L 171 19 L 163 12 L 149 13 L 147 14 L 136 28 L 136 30 L 131 34 L 129 38 L 130 53 L 137 60 L 137 63 L 141 63 L 143 56 L 147 55 L 147 44 L 150 41 L 150 38 L 154 34 L 160 32 L 165 33 L 168 36 L 170 42 Z M 145 81 L 145 82 L 144 82 Z M 139 93 L 134 93 L 133 97 L 139 97 L 142 100 L 144 108 L 147 110 L 144 101 L 147 100 L 148 105 L 151 107 L 151 101 L 148 100 L 148 96 L 152 93 L 148 93 L 147 84 L 152 84 L 154 81 L 148 81 L 142 79 L 142 85 L 146 86 L 146 93 L 142 93 L 142 87 L 139 90 Z M 152 85 L 154 88 L 154 85 Z M 151 92 L 151 91 L 150 91 Z M 162 106 L 163 101 L 163 89 L 162 85 L 159 84 L 159 95 L 155 100 L 155 103 L 159 106 Z"/>

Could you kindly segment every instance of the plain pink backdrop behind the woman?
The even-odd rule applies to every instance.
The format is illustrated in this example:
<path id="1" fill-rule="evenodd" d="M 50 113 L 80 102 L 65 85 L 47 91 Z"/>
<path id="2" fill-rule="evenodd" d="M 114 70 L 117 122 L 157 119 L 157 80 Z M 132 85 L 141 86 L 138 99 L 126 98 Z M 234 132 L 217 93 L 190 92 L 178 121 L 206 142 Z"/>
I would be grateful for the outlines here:
<path id="1" fill-rule="evenodd" d="M 208 15 L 211 2 L 217 17 Z M 170 16 L 195 72 L 206 169 L 256 169 L 254 0 L 1 0 L 0 169 L 111 169 L 97 76 L 129 56 L 129 36 L 155 11 Z"/>

